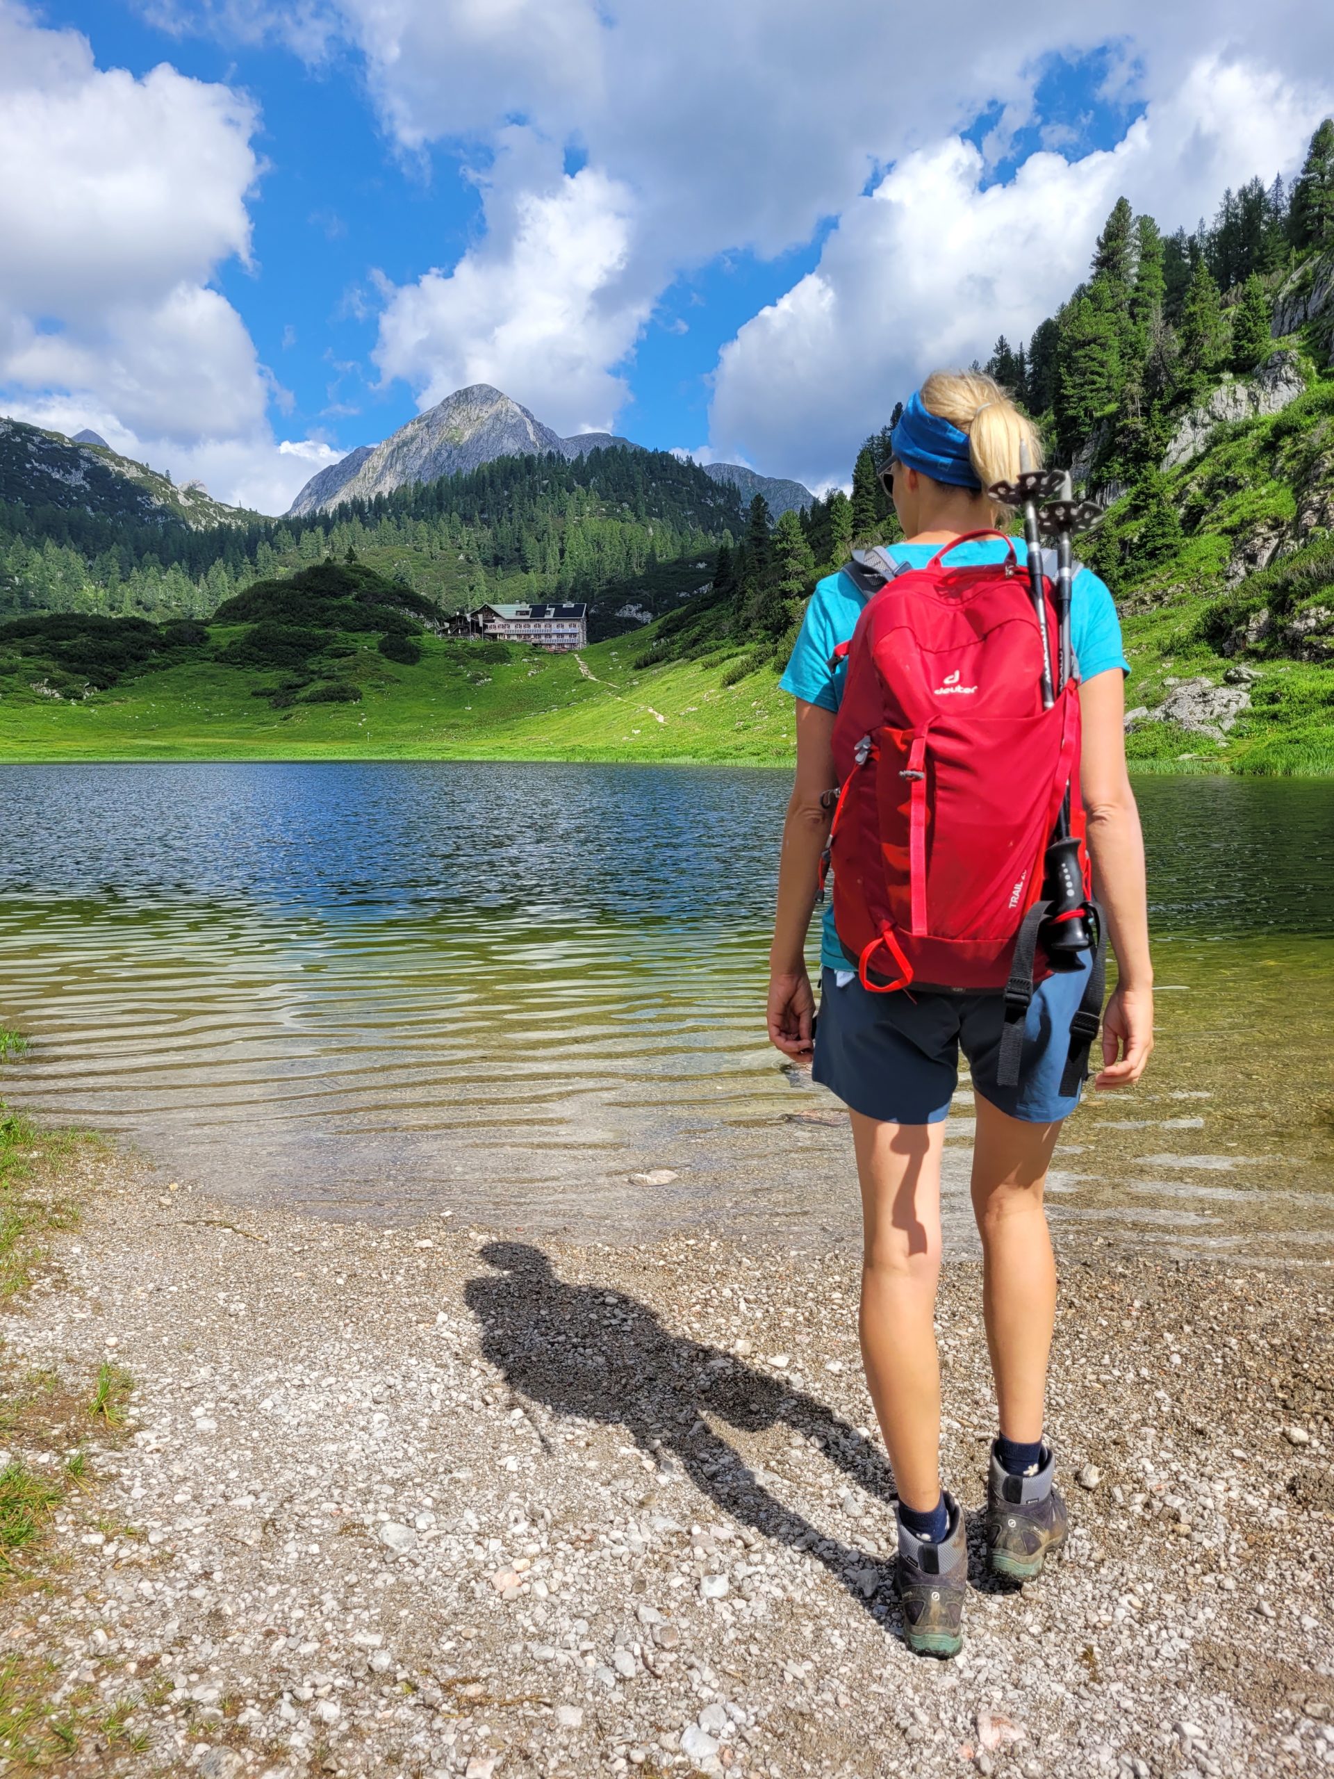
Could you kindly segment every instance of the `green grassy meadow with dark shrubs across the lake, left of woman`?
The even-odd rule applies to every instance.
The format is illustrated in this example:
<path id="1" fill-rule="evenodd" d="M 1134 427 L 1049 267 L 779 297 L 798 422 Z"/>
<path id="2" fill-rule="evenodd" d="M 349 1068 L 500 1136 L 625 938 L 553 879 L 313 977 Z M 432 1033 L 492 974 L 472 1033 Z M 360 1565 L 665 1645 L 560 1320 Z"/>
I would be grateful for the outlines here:
<path id="1" fill-rule="evenodd" d="M 434 632 L 365 564 L 229 600 L 213 624 L 73 616 L 0 626 L 0 760 L 784 758 L 772 669 L 639 671 L 639 635 L 580 656 Z"/>

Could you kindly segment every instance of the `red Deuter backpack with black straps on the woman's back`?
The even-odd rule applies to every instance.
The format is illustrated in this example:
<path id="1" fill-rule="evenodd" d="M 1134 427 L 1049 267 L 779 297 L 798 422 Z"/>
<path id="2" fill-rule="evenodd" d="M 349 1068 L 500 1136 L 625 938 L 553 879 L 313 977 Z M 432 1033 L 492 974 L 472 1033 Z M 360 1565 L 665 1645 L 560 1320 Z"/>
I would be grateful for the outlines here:
<path id="1" fill-rule="evenodd" d="M 950 551 L 975 537 L 1000 537 L 1005 560 L 952 568 Z M 820 884 L 832 861 L 834 927 L 872 993 L 909 984 L 1005 993 L 998 1078 L 1014 1085 L 1033 982 L 1069 968 L 1041 945 L 1044 856 L 1067 788 L 1085 898 L 1090 888 L 1078 680 L 1042 708 L 1028 575 L 1000 532 L 957 537 L 925 568 L 868 551 L 848 571 L 872 598 L 852 640 L 834 651 L 847 656 L 847 681 Z M 1049 576 L 1044 591 L 1055 660 Z M 1074 1069 L 1078 1080 L 1103 1002 L 1101 918 L 1096 925 L 1094 970 L 1071 1037 L 1067 1078 Z M 1062 1082 L 1062 1091 L 1073 1087 Z"/>

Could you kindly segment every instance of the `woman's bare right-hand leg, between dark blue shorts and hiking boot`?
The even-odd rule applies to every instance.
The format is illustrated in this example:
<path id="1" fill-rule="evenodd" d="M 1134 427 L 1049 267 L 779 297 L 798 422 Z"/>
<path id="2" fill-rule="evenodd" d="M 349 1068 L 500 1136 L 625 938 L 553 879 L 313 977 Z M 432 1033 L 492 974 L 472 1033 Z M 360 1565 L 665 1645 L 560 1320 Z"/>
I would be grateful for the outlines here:
<path id="1" fill-rule="evenodd" d="M 982 1308 L 1000 1429 L 1042 1437 L 1048 1356 L 1057 1320 L 1057 1263 L 1042 1187 L 1057 1124 L 1025 1124 L 975 1094 L 973 1215 L 982 1235 Z"/>

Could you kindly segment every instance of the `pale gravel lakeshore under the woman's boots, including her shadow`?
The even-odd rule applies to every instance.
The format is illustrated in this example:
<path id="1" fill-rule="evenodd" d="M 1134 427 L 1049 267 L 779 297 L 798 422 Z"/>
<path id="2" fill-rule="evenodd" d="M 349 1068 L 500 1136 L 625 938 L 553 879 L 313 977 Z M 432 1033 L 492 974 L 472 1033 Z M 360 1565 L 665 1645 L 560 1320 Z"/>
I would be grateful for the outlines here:
<path id="1" fill-rule="evenodd" d="M 46 1589 L 0 1605 L 48 1706 L 96 1697 L 116 1726 L 55 1770 L 1334 1768 L 1325 1268 L 1064 1247 L 1071 1548 L 1007 1589 L 975 1525 L 939 1665 L 888 1592 L 847 1254 L 382 1229 L 80 1169 L 84 1224 L 7 1324 L 11 1361 L 135 1379 Z M 939 1316 L 973 1512 L 978 1284 L 948 1267 Z"/>

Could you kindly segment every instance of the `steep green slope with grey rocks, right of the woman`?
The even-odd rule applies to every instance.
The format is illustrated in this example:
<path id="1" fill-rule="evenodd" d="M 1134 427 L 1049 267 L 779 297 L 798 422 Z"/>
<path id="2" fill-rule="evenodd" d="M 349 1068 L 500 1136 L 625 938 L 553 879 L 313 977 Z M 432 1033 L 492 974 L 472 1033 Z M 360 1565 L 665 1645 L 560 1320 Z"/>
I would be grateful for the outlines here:
<path id="1" fill-rule="evenodd" d="M 1140 769 L 1334 772 L 1334 377 L 1302 368 L 1304 393 L 1208 427 L 1085 551 L 1121 607 Z"/>

